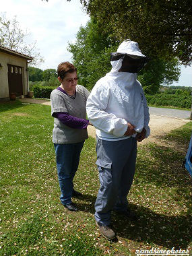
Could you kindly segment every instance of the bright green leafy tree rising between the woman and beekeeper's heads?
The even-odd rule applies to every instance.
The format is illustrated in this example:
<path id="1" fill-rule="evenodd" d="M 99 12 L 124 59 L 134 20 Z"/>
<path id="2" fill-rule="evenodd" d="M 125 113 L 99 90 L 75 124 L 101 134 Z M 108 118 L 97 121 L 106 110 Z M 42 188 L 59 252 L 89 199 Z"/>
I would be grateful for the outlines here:
<path id="1" fill-rule="evenodd" d="M 110 71 L 110 53 L 117 49 L 107 36 L 102 35 L 96 20 L 91 20 L 77 32 L 76 42 L 68 46 L 77 67 L 79 84 L 92 89 L 96 81 Z"/>

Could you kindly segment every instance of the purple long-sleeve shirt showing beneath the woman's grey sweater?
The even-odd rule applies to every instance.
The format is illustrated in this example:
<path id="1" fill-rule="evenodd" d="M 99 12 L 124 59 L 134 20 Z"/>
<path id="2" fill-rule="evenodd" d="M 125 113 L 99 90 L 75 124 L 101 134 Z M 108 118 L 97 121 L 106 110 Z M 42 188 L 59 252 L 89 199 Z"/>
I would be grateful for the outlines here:
<path id="1" fill-rule="evenodd" d="M 61 87 L 58 87 L 57 90 L 67 94 Z M 68 95 L 68 94 L 67 94 Z M 53 113 L 53 116 L 58 118 L 64 125 L 67 125 L 73 129 L 87 129 L 89 121 L 87 119 L 81 119 L 78 117 L 73 117 L 67 112 L 57 112 Z"/>

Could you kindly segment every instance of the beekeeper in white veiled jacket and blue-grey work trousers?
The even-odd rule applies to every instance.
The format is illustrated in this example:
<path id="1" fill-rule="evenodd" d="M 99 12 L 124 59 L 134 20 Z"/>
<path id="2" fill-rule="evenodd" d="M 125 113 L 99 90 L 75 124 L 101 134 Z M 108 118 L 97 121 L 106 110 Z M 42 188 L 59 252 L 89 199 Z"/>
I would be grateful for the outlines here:
<path id="1" fill-rule="evenodd" d="M 116 238 L 110 226 L 112 210 L 129 220 L 137 216 L 128 207 L 127 195 L 135 173 L 137 141 L 150 135 L 150 114 L 137 73 L 148 57 L 137 42 L 125 40 L 110 54 L 112 69 L 98 80 L 86 109 L 96 128 L 100 189 L 95 203 L 96 224 L 102 236 Z"/>

